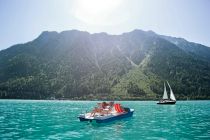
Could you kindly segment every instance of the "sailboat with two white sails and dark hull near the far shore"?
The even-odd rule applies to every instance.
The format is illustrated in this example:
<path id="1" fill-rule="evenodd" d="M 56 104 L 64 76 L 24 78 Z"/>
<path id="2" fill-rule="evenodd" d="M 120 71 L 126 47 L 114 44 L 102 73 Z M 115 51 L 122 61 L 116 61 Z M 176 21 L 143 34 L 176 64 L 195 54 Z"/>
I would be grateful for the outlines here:
<path id="1" fill-rule="evenodd" d="M 168 94 L 166 91 L 166 86 L 165 86 L 165 82 L 164 82 L 164 93 L 163 93 L 163 98 L 157 103 L 157 104 L 175 104 L 176 103 L 176 98 L 174 96 L 174 93 L 171 89 L 170 84 L 167 81 L 167 84 L 170 88 L 170 98 L 168 98 Z"/>

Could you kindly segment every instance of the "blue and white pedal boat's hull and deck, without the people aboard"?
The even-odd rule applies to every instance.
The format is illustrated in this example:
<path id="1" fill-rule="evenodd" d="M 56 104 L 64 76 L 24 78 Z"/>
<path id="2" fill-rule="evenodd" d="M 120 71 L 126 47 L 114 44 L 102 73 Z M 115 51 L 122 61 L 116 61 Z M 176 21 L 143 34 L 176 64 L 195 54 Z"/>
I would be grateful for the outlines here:
<path id="1" fill-rule="evenodd" d="M 119 105 L 118 105 L 119 106 Z M 116 107 L 114 107 L 116 108 Z M 119 108 L 118 108 L 119 109 Z M 97 113 L 92 115 L 92 113 L 80 114 L 78 116 L 80 121 L 89 121 L 96 123 L 108 123 L 115 120 L 120 120 L 123 118 L 128 118 L 133 116 L 134 109 L 123 108 L 123 111 L 110 111 L 109 113 Z"/>

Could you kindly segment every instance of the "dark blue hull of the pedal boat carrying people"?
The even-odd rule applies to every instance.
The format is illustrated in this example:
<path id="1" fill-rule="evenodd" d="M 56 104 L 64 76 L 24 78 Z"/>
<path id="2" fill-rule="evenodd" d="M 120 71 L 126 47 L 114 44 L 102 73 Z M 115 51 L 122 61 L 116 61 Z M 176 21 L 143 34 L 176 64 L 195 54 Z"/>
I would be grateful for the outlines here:
<path id="1" fill-rule="evenodd" d="M 95 121 L 96 123 L 108 123 L 108 122 L 112 122 L 115 120 L 120 120 L 120 119 L 124 119 L 124 118 L 128 118 L 128 117 L 132 117 L 133 116 L 133 109 L 129 109 L 128 112 L 124 112 L 124 113 L 120 113 L 117 115 L 107 115 L 107 116 L 98 116 L 98 117 L 94 117 L 94 118 L 86 118 L 85 115 L 81 115 L 79 116 L 79 120 L 82 121 Z"/>

